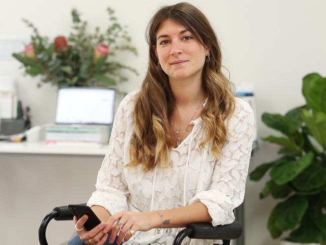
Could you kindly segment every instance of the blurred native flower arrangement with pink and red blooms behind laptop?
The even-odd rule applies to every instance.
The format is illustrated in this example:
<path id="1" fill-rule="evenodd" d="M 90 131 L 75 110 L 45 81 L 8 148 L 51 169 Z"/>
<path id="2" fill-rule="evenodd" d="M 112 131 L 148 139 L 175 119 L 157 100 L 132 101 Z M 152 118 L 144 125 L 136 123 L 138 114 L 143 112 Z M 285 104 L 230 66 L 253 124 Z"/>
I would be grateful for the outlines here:
<path id="1" fill-rule="evenodd" d="M 27 74 L 41 75 L 42 82 L 58 87 L 107 87 L 126 81 L 123 69 L 135 74 L 137 71 L 114 61 L 113 56 L 117 51 L 130 51 L 134 55 L 137 51 L 129 45 L 131 38 L 125 27 L 118 24 L 114 11 L 107 8 L 107 12 L 111 25 L 104 34 L 96 27 L 92 35 L 86 33 L 87 22 L 81 21 L 77 10 L 72 10 L 73 31 L 68 38 L 58 36 L 51 43 L 48 37 L 40 36 L 32 23 L 23 20 L 33 29 L 34 35 L 25 51 L 13 56 L 22 62 Z"/>

